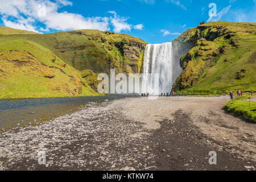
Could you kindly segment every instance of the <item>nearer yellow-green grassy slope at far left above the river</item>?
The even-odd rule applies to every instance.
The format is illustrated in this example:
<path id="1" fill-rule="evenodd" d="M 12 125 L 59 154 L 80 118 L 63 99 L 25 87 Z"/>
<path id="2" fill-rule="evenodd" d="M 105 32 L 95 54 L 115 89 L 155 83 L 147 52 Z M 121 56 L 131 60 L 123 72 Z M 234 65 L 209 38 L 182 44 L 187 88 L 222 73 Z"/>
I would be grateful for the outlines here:
<path id="1" fill-rule="evenodd" d="M 1 42 L 0 55 L 1 99 L 97 95 L 81 84 L 81 72 L 39 44 L 20 39 Z"/>

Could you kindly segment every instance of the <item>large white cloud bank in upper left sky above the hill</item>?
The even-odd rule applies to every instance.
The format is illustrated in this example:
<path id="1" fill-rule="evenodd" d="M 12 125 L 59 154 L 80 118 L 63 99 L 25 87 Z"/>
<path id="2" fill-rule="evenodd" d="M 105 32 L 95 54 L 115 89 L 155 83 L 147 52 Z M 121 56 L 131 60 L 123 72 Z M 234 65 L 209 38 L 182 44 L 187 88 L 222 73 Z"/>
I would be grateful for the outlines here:
<path id="1" fill-rule="evenodd" d="M 117 15 L 115 11 L 109 11 L 113 14 L 110 17 L 84 17 L 67 11 L 61 12 L 61 7 L 72 6 L 72 2 L 68 0 L 55 0 L 55 2 L 49 0 L 0 0 L 0 5 L 0 14 L 5 26 L 28 31 L 79 29 L 109 31 L 109 26 L 112 24 L 115 32 L 121 32 L 131 31 L 133 27 L 126 23 L 128 18 Z"/>

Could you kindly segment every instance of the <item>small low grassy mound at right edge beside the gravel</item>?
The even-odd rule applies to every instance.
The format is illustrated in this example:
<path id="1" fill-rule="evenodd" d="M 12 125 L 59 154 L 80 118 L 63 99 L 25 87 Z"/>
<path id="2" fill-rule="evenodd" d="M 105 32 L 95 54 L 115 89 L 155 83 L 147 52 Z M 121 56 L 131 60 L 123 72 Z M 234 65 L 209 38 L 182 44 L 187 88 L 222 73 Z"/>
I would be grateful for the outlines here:
<path id="1" fill-rule="evenodd" d="M 247 121 L 256 122 L 256 101 L 251 101 L 249 106 L 248 97 L 236 98 L 236 100 L 228 102 L 224 109 Z"/>

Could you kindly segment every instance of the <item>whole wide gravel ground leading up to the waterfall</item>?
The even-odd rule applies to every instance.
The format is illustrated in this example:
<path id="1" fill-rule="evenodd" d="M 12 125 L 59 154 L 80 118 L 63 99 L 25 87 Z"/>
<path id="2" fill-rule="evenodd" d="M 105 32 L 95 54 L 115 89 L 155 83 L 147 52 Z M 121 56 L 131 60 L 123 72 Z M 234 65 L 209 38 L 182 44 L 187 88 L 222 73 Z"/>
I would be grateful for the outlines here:
<path id="1" fill-rule="evenodd" d="M 255 124 L 227 97 L 126 98 L 0 135 L 0 170 L 254 170 Z M 45 151 L 46 165 L 38 164 Z M 217 165 L 209 165 L 209 151 Z"/>

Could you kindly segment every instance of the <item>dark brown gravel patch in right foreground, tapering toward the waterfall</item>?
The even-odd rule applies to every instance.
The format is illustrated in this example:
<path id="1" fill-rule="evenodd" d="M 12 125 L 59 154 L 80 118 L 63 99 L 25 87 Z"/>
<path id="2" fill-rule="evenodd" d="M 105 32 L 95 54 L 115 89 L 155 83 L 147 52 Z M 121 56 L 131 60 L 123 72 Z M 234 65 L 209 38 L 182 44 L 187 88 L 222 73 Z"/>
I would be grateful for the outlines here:
<path id="1" fill-rule="evenodd" d="M 150 137 L 156 170 L 246 170 L 246 161 L 207 144 L 212 139 L 192 124 L 188 114 L 177 110 L 173 117 L 160 122 L 160 129 Z M 217 152 L 217 165 L 209 164 L 210 151 Z"/>

